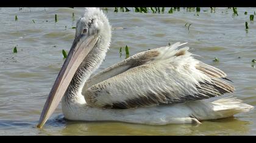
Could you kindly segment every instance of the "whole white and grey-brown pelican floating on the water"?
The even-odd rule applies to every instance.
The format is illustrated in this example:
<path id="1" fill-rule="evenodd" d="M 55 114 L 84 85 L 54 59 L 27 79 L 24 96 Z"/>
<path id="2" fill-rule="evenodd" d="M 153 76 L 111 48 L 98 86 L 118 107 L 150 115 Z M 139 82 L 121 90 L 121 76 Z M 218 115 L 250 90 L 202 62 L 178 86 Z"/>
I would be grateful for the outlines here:
<path id="1" fill-rule="evenodd" d="M 61 100 L 68 120 L 148 125 L 200 124 L 254 108 L 221 96 L 235 90 L 226 73 L 195 59 L 186 43 L 137 53 L 92 76 L 110 47 L 111 29 L 100 8 L 85 8 L 37 127 Z"/>

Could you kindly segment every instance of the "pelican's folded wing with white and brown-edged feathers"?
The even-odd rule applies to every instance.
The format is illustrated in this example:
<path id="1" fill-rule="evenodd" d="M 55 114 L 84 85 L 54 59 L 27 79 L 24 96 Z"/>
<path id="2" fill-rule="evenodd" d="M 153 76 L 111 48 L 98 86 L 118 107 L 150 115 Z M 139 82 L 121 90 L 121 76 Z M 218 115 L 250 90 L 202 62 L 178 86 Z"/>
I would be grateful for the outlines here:
<path id="1" fill-rule="evenodd" d="M 226 74 L 194 59 L 179 42 L 141 52 L 93 76 L 84 88 L 93 107 L 136 108 L 207 99 L 234 88 Z"/>

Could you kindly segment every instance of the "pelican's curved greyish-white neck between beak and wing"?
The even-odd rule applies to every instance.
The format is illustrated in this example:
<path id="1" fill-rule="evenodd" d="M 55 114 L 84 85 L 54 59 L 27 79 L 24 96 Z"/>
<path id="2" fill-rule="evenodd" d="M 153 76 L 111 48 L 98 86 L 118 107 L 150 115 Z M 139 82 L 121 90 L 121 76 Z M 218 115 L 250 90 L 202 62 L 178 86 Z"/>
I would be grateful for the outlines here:
<path id="1" fill-rule="evenodd" d="M 82 89 L 85 82 L 90 78 L 93 71 L 95 71 L 105 58 L 108 47 L 110 45 L 109 41 L 99 40 L 98 44 L 88 53 L 87 57 L 84 59 L 82 64 L 79 65 L 76 73 L 70 82 L 68 89 L 65 92 L 65 97 L 63 101 L 65 104 L 85 104 L 84 96 L 82 95 Z"/>

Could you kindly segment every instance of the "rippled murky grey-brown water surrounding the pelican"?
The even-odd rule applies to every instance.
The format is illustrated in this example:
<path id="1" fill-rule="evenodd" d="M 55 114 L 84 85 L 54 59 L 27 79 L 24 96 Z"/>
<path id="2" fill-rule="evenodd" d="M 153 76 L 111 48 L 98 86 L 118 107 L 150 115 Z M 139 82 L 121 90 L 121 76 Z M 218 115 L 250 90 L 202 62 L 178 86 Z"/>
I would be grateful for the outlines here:
<path id="1" fill-rule="evenodd" d="M 191 52 L 201 55 L 198 59 L 227 73 L 236 88 L 233 96 L 255 106 L 256 64 L 251 61 L 256 59 L 256 25 L 249 21 L 254 11 L 238 8 L 238 16 L 232 16 L 227 8 L 216 8 L 215 13 L 201 8 L 197 16 L 183 8 L 173 14 L 114 13 L 108 8 L 112 45 L 99 70 L 125 59 L 124 54 L 119 57 L 119 48 L 125 45 L 133 55 L 168 43 L 188 42 Z M 0 8 L 0 135 L 256 135 L 255 110 L 201 125 L 151 126 L 65 121 L 59 105 L 46 126 L 36 128 L 64 62 L 62 49 L 71 47 L 72 27 L 83 12 L 83 8 Z M 18 53 L 13 54 L 15 46 Z M 219 62 L 213 62 L 215 57 Z"/>

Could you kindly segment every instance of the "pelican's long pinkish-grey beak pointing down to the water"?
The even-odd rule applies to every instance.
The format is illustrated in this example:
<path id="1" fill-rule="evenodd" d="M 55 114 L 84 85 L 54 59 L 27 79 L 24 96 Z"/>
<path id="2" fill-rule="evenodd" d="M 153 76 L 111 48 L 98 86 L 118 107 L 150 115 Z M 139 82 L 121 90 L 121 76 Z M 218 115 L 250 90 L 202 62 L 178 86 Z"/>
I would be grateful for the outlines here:
<path id="1" fill-rule="evenodd" d="M 38 128 L 43 127 L 48 118 L 52 115 L 55 108 L 58 106 L 60 100 L 65 94 L 69 83 L 71 82 L 74 73 L 76 73 L 79 65 L 84 61 L 88 53 L 93 49 L 94 45 L 98 42 L 98 36 L 88 36 L 83 35 L 74 39 L 73 45 L 69 50 L 68 57 L 64 62 L 59 75 L 52 87 L 51 92 L 44 104 L 43 111 L 39 120 Z"/>

